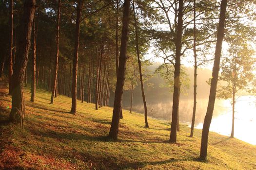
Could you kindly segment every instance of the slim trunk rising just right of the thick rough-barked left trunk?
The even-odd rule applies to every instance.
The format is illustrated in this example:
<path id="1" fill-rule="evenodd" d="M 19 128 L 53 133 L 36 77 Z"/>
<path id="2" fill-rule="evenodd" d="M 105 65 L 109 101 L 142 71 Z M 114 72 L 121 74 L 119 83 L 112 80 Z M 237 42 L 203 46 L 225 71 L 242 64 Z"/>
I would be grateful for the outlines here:
<path id="1" fill-rule="evenodd" d="M 35 101 L 36 96 L 36 63 L 37 63 L 37 34 L 36 34 L 36 22 L 34 19 L 33 24 L 33 55 L 32 55 L 32 74 L 31 74 L 31 98 L 30 101 Z"/>

